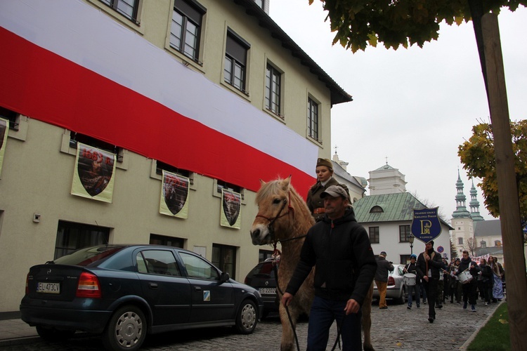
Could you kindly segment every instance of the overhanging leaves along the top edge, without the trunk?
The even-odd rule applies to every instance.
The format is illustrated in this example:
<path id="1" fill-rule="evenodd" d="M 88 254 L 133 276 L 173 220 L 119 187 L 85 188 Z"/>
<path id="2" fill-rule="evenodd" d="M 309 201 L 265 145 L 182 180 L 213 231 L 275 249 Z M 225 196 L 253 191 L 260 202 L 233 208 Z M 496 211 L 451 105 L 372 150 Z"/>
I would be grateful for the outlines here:
<path id="1" fill-rule="evenodd" d="M 308 0 L 313 4 L 314 0 Z M 467 0 L 320 0 L 328 11 L 333 44 L 339 43 L 356 52 L 380 42 L 386 48 L 422 47 L 427 41 L 439 37 L 439 23 L 460 25 L 471 19 L 470 1 Z M 476 3 L 477 1 L 474 1 Z M 525 0 L 481 1 L 483 13 L 500 13 L 507 7 L 515 11 Z"/>

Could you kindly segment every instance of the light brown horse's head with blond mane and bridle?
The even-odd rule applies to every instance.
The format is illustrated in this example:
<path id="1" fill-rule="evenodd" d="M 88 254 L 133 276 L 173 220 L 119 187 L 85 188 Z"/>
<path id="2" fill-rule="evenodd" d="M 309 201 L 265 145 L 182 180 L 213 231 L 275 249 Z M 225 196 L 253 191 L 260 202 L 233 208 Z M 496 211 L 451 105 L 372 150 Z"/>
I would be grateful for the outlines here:
<path id="1" fill-rule="evenodd" d="M 258 214 L 251 228 L 252 244 L 273 244 L 296 235 L 299 230 L 305 230 L 302 232 L 305 234 L 313 219 L 304 200 L 290 185 L 291 176 L 269 183 L 260 180 L 260 183 L 256 193 Z"/>

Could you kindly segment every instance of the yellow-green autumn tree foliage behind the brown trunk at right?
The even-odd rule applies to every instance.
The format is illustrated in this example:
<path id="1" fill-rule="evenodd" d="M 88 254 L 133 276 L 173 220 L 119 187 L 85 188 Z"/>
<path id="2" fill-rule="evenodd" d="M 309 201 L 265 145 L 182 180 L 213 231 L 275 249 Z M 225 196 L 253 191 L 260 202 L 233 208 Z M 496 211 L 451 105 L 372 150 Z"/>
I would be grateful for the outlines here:
<path id="1" fill-rule="evenodd" d="M 527 223 L 527 120 L 511 122 L 514 170 L 520 203 L 521 226 Z M 458 156 L 471 178 L 481 178 L 485 207 L 494 216 L 500 216 L 497 194 L 496 161 L 492 125 L 480 123 L 472 127 L 472 136 L 459 146 Z"/>

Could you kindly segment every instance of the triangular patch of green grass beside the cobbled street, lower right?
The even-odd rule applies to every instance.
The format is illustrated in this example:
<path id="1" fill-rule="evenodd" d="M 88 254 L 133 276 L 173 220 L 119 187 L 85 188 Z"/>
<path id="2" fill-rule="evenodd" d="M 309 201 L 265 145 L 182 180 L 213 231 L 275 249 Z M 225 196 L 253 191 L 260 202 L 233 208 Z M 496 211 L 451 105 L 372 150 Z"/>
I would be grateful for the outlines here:
<path id="1" fill-rule="evenodd" d="M 497 307 L 494 314 L 483 328 L 479 330 L 476 338 L 472 340 L 468 351 L 507 351 L 511 350 L 511 340 L 509 338 L 509 312 L 507 303 L 502 303 Z"/>

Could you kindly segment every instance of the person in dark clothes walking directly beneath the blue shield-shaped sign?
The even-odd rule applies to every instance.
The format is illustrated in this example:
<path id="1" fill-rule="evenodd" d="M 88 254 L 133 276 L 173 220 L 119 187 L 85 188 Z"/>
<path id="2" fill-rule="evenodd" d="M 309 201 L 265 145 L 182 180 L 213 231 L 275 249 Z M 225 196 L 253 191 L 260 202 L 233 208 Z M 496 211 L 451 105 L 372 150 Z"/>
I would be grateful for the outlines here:
<path id="1" fill-rule="evenodd" d="M 439 272 L 444 268 L 441 253 L 434 251 L 434 241 L 427 242 L 426 249 L 424 252 L 419 253 L 419 257 L 417 258 L 417 274 L 422 279 L 424 289 L 427 291 L 428 322 L 430 323 L 434 323 L 434 320 L 436 320 L 436 297 Z"/>

